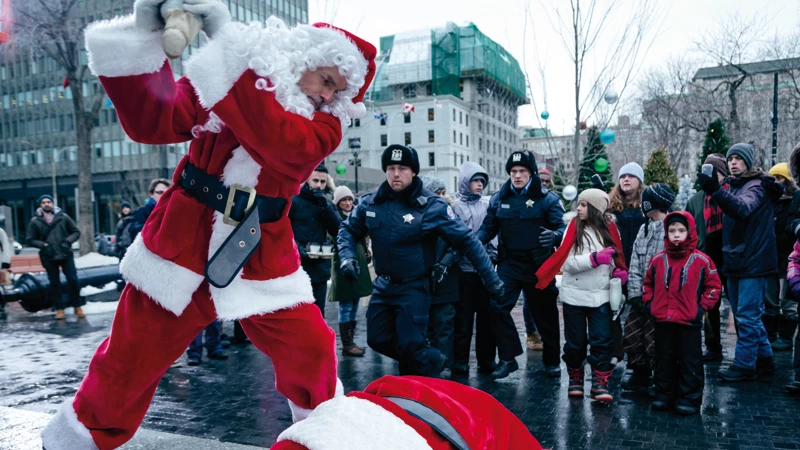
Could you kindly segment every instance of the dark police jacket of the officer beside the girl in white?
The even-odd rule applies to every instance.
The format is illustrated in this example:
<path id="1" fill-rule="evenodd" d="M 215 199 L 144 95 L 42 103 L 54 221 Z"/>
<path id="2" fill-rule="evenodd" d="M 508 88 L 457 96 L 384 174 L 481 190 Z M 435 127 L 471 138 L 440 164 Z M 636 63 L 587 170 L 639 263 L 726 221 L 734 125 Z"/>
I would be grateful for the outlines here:
<path id="1" fill-rule="evenodd" d="M 539 177 L 532 178 L 528 191 L 522 195 L 511 189 L 509 179 L 489 200 L 477 237 L 487 243 L 499 234 L 500 260 L 515 259 L 539 266 L 553 251 L 539 243 L 541 228 L 555 231 L 555 245 L 561 244 L 566 229 L 563 216 L 564 207 L 558 195 L 542 188 Z"/>

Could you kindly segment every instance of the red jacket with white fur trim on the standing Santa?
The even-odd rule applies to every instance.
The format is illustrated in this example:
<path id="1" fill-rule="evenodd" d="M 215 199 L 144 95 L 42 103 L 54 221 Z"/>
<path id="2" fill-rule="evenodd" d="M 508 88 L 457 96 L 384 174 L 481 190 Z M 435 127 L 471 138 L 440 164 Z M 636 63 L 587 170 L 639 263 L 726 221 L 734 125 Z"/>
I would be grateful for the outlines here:
<path id="1" fill-rule="evenodd" d="M 139 31 L 133 23 L 126 17 L 89 27 L 89 67 L 99 76 L 132 140 L 145 144 L 191 140 L 191 145 L 175 170 L 175 184 L 128 249 L 122 274 L 176 315 L 203 282 L 206 262 L 234 227 L 180 187 L 183 167 L 191 162 L 227 186 L 248 186 L 260 195 L 287 200 L 280 220 L 261 224 L 260 247 L 239 276 L 224 289 L 211 287 L 219 317 L 236 319 L 313 302 L 286 215 L 300 185 L 341 141 L 340 119 L 314 112 L 292 81 L 296 74 L 275 62 L 280 61 L 274 54 L 281 48 L 271 41 L 281 40 L 270 40 L 269 33 L 256 25 L 225 25 L 189 60 L 187 76 L 175 81 L 161 33 Z M 352 65 L 346 77 L 347 95 L 360 102 L 374 73 L 374 47 L 326 25 L 302 27 L 305 40 L 294 45 L 305 45 L 312 52 L 324 45 L 329 53 L 345 55 L 341 61 Z M 353 108 L 350 103 L 350 111 L 363 113 L 363 105 L 358 105 Z M 335 110 L 341 116 L 344 109 L 324 111 Z"/>

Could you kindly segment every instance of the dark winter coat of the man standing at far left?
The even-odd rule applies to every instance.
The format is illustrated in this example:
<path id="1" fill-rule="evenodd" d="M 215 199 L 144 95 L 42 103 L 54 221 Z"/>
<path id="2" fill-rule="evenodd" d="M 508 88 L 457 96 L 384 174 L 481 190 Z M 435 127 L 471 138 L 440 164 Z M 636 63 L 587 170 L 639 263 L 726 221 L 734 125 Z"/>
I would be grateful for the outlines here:
<path id="1" fill-rule="evenodd" d="M 39 208 L 28 225 L 25 242 L 28 246 L 39 249 L 39 258 L 42 261 L 60 261 L 73 258 L 72 244 L 80 237 L 81 232 L 75 222 L 61 208 L 55 208 L 50 225 L 44 220 L 42 209 Z"/>

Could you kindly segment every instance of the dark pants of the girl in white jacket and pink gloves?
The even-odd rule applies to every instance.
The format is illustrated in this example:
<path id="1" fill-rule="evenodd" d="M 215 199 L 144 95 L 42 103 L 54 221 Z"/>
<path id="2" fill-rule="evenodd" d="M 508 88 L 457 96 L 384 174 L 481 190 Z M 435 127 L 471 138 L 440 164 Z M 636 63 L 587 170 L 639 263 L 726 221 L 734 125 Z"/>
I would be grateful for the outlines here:
<path id="1" fill-rule="evenodd" d="M 611 307 L 608 303 L 591 308 L 564 304 L 564 356 L 567 367 L 583 367 L 587 360 L 592 369 L 612 370 L 614 337 L 611 335 Z M 588 334 L 587 334 L 588 329 Z M 590 346 L 589 356 L 586 347 Z"/>

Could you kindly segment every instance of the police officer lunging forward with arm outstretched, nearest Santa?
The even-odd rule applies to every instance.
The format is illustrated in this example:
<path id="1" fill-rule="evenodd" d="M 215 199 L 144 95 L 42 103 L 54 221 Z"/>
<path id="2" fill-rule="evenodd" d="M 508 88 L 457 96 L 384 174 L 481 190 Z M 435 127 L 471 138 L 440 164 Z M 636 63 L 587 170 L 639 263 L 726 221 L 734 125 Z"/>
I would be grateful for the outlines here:
<path id="1" fill-rule="evenodd" d="M 366 270 L 359 267 L 355 245 L 369 235 L 378 277 L 367 309 L 367 343 L 398 360 L 401 375 L 438 376 L 446 358 L 426 339 L 438 239 L 472 262 L 490 293 L 500 295 L 503 284 L 484 247 L 447 201 L 423 189 L 416 150 L 390 145 L 381 165 L 386 181 L 362 198 L 339 229 L 341 270 L 351 279 Z"/>

